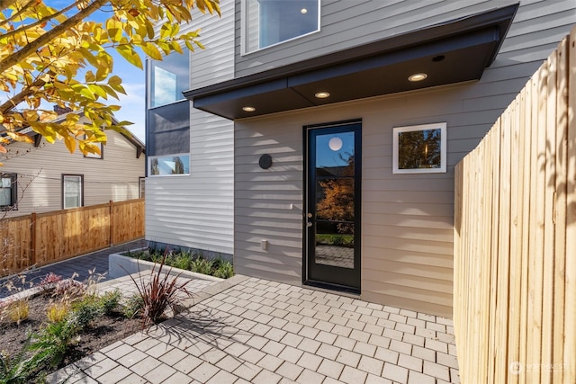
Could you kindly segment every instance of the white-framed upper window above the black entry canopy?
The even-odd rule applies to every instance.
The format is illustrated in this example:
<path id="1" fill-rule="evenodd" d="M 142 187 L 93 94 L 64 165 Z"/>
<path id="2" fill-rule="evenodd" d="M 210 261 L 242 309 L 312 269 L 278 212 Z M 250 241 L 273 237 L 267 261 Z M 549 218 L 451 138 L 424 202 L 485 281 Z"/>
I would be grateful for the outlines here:
<path id="1" fill-rule="evenodd" d="M 244 52 L 320 31 L 320 0 L 244 0 Z"/>

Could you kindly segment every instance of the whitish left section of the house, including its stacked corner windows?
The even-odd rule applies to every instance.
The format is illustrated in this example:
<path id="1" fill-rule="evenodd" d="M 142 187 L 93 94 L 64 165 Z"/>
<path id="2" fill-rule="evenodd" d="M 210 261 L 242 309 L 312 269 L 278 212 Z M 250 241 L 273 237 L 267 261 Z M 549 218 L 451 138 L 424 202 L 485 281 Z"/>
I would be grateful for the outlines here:
<path id="1" fill-rule="evenodd" d="M 234 4 L 221 4 L 222 17 L 197 16 L 181 31 L 202 29 L 206 49 L 179 58 L 186 66 L 182 88 L 155 86 L 164 74 L 163 62 L 148 60 L 148 177 L 146 179 L 146 239 L 151 244 L 191 248 L 209 254 L 233 254 L 234 144 L 233 122 L 190 108 L 181 91 L 229 80 L 234 76 Z M 167 68 L 174 70 L 174 68 Z M 176 72 L 174 70 L 174 72 Z M 159 83 L 159 82 L 158 82 Z M 170 121 L 180 109 L 181 121 Z M 166 113 L 164 112 L 166 111 Z M 158 116 L 160 116 L 158 118 Z M 169 121 L 166 124 L 166 121 Z M 177 125 L 174 135 L 168 132 Z M 181 155 L 188 167 L 182 174 L 153 174 L 150 164 Z M 166 161 L 166 160 L 165 160 Z"/>

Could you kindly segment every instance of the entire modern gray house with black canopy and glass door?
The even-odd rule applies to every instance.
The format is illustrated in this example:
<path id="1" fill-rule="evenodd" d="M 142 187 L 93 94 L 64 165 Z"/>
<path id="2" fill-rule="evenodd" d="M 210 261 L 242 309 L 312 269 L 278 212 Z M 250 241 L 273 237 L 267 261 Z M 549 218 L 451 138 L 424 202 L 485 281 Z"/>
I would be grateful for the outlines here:
<path id="1" fill-rule="evenodd" d="M 147 239 L 452 317 L 454 166 L 574 24 L 573 1 L 224 2 L 189 27 L 206 50 L 148 62 L 149 155 L 185 165 L 148 169 Z"/>

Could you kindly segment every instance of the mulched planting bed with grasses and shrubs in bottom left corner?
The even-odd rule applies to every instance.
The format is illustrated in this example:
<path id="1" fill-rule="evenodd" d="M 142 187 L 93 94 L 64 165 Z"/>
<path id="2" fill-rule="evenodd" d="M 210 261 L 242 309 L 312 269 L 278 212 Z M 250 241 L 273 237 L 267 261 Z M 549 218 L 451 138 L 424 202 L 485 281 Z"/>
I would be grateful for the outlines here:
<path id="1" fill-rule="evenodd" d="M 121 304 L 121 300 L 123 303 Z M 141 305 L 118 290 L 50 273 L 0 301 L 0 382 L 42 382 L 52 371 L 143 328 Z"/>

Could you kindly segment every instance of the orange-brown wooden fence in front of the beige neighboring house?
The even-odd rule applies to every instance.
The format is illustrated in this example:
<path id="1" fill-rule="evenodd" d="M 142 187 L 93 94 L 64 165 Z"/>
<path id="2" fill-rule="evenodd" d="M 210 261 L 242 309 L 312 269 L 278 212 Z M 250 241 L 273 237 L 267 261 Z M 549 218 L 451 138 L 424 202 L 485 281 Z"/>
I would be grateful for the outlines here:
<path id="1" fill-rule="evenodd" d="M 1 275 L 144 236 L 144 199 L 0 220 Z"/>

